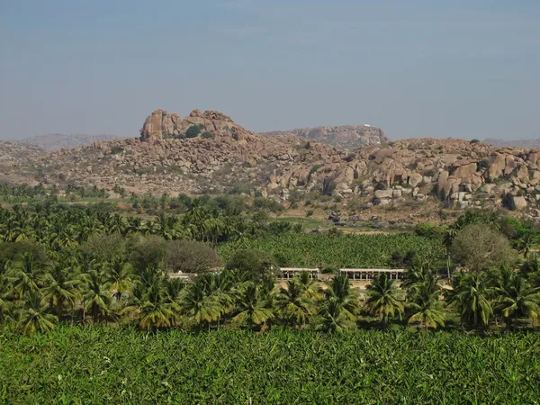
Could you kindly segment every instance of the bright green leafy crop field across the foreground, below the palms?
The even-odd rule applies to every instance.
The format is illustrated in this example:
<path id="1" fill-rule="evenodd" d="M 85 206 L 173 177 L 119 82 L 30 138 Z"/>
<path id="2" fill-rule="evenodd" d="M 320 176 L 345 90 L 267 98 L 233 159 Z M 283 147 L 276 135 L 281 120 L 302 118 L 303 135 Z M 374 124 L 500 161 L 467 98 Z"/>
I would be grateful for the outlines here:
<path id="1" fill-rule="evenodd" d="M 0 335 L 0 402 L 534 404 L 540 338 L 302 330 Z"/>

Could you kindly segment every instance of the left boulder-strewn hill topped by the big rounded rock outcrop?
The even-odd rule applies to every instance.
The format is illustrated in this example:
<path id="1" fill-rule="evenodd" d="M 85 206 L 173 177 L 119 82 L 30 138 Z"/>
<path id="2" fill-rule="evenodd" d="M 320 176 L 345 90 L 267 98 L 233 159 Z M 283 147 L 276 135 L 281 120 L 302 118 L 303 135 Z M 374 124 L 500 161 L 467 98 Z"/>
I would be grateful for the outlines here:
<path id="1" fill-rule="evenodd" d="M 343 158 L 344 152 L 314 141 L 254 134 L 220 112 L 195 110 L 181 118 L 157 110 L 144 122 L 139 139 L 59 150 L 31 159 L 12 173 L 33 170 L 45 183 L 108 189 L 119 184 L 135 193 L 265 194 L 268 184 L 275 187 L 278 181 L 288 187 L 295 173 L 309 173 L 312 166 Z M 317 175 L 311 178 L 315 182 Z"/>

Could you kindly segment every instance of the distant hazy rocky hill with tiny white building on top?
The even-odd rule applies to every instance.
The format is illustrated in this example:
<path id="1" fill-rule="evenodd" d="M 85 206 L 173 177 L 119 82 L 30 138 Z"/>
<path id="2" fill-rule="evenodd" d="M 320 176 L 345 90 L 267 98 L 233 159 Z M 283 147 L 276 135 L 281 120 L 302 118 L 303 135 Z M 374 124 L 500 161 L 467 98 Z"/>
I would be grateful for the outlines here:
<path id="1" fill-rule="evenodd" d="M 379 145 L 390 141 L 384 131 L 371 125 L 342 125 L 334 127 L 301 128 L 297 130 L 284 130 L 265 132 L 262 135 L 269 137 L 296 136 L 314 139 L 334 148 L 347 151 L 361 148 L 366 145 Z"/>

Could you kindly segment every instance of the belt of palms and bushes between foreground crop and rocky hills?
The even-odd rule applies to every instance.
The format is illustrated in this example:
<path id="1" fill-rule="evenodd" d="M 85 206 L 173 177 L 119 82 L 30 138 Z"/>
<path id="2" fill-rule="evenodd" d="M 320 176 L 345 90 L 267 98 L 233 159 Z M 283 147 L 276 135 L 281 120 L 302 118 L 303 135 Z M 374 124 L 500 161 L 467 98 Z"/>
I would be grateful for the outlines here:
<path id="1" fill-rule="evenodd" d="M 320 283 L 302 274 L 277 286 L 275 257 L 243 246 L 246 238 L 301 230 L 196 202 L 184 215 L 151 220 L 48 202 L 0 209 L 0 320 L 27 334 L 58 322 L 324 331 L 366 322 L 426 331 L 537 325 L 540 265 L 530 224 L 470 211 L 446 228 L 419 226 L 446 247 L 446 263 L 398 252 L 404 278 L 380 275 L 365 293 L 346 275 Z M 224 242 L 237 246 L 226 263 L 213 248 Z M 439 279 L 441 266 L 449 285 Z M 170 277 L 178 271 L 199 276 L 185 284 Z"/>

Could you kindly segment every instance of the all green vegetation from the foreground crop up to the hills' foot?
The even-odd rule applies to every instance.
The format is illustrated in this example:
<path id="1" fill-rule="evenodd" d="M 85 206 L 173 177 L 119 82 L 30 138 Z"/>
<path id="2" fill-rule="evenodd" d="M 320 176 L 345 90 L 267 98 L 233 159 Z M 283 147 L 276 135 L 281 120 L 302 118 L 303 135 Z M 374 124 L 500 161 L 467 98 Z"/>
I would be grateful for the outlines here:
<path id="1" fill-rule="evenodd" d="M 307 234 L 265 211 L 248 216 L 235 199 L 175 201 L 180 215 L 153 219 L 54 202 L 0 209 L 0 402 L 539 397 L 530 225 L 482 212 L 416 234 Z M 491 251 L 489 238 L 453 262 L 478 224 L 522 263 L 473 262 Z M 325 283 L 302 272 L 276 284 L 276 265 L 407 271 L 401 281 L 379 275 L 363 294 L 338 271 Z M 441 275 L 452 275 L 452 289 Z"/>

